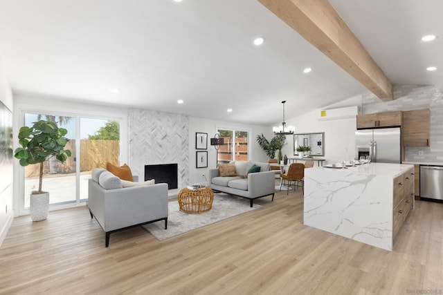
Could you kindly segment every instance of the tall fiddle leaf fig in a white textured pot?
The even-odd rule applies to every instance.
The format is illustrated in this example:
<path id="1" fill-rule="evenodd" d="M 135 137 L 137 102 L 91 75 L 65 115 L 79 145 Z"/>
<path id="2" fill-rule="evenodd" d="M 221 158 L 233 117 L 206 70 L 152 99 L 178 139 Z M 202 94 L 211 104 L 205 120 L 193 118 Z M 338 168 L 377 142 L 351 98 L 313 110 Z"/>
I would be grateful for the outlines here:
<path id="1" fill-rule="evenodd" d="M 55 157 L 65 162 L 71 157 L 71 151 L 64 149 L 69 139 L 64 137 L 68 131 L 58 128 L 57 123 L 48 120 L 33 122 L 32 127 L 23 126 L 19 130 L 19 144 L 14 157 L 20 160 L 21 166 L 40 164 L 39 189 L 30 195 L 30 217 L 33 221 L 45 220 L 49 212 L 49 193 L 42 191 L 43 164 Z"/>

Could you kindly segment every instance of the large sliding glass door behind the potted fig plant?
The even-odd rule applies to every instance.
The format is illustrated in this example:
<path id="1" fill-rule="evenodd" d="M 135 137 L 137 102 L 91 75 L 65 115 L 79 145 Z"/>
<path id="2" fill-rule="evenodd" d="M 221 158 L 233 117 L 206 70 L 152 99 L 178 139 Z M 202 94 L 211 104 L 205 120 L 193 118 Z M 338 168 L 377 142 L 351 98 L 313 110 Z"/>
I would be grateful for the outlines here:
<path id="1" fill-rule="evenodd" d="M 106 163 L 118 165 L 120 158 L 120 123 L 106 118 L 24 113 L 24 124 L 51 120 L 68 131 L 66 149 L 71 157 L 64 163 L 55 158 L 44 163 L 42 189 L 49 192 L 51 205 L 78 204 L 88 199 L 88 179 L 94 168 L 106 168 Z M 29 196 L 38 189 L 39 164 L 24 167 L 23 210 L 29 209 Z"/>

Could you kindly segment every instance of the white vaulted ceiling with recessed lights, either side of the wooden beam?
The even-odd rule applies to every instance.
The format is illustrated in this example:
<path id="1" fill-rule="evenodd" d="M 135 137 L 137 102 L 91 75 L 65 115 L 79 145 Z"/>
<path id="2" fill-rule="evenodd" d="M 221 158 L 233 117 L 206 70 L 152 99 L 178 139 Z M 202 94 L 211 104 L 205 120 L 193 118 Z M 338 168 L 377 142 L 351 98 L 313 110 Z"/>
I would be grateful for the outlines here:
<path id="1" fill-rule="evenodd" d="M 329 3 L 392 84 L 442 84 L 443 1 Z M 282 100 L 294 117 L 367 91 L 257 0 L 0 0 L 0 8 L 0 57 L 15 94 L 274 124 Z M 437 39 L 421 41 L 428 34 Z"/>

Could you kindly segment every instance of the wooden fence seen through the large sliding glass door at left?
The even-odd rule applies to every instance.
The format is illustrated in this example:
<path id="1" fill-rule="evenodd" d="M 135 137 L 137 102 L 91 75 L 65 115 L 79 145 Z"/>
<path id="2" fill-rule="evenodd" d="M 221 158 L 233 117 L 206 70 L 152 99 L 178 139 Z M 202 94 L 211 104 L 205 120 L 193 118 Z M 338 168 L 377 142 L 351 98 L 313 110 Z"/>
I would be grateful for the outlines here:
<path id="1" fill-rule="evenodd" d="M 44 174 L 69 174 L 75 172 L 75 161 L 77 160 L 77 153 L 75 150 L 75 140 L 69 140 L 65 149 L 71 150 L 72 156 L 63 164 L 54 162 L 50 164 L 48 161 L 44 162 Z M 94 168 L 106 169 L 106 163 L 119 164 L 120 144 L 118 140 L 80 140 L 80 172 L 91 171 Z M 39 164 L 25 167 L 26 177 L 38 177 Z M 50 171 L 50 167 L 51 170 Z"/>

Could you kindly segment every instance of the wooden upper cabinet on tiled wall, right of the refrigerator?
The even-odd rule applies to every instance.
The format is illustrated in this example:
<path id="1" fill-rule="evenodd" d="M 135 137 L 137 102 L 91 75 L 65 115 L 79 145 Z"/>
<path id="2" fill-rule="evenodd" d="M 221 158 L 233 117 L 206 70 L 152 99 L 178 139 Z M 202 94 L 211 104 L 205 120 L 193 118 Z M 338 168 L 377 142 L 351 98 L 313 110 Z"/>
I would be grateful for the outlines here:
<path id="1" fill-rule="evenodd" d="M 431 111 L 423 110 L 403 112 L 403 145 L 429 146 L 431 129 Z"/>

